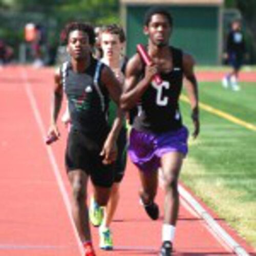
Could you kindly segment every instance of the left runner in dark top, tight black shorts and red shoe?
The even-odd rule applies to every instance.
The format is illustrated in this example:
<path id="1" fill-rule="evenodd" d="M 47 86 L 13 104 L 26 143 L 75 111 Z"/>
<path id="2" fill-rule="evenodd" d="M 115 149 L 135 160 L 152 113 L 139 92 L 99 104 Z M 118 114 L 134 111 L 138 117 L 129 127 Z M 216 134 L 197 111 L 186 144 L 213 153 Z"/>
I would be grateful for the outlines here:
<path id="1" fill-rule="evenodd" d="M 119 104 L 121 84 L 113 72 L 92 55 L 95 34 L 92 26 L 70 23 L 61 33 L 70 62 L 55 75 L 51 126 L 48 134 L 59 137 L 57 118 L 63 92 L 71 113 L 71 130 L 66 149 L 66 166 L 72 186 L 72 213 L 85 256 L 95 256 L 86 205 L 89 177 L 95 190 L 95 200 L 106 205 L 114 180 L 116 140 L 122 126 L 122 112 L 118 108 L 113 126 L 106 120 L 109 97 Z"/>

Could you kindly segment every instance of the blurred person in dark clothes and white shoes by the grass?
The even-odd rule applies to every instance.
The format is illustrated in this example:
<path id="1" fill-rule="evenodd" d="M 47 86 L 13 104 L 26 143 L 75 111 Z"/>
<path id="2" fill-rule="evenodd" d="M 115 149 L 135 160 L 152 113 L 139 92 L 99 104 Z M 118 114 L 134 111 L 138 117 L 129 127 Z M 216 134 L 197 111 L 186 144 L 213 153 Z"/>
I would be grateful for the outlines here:
<path id="1" fill-rule="evenodd" d="M 227 36 L 224 58 L 227 60 L 231 71 L 222 79 L 224 88 L 231 88 L 233 91 L 240 91 L 238 76 L 245 54 L 245 40 L 241 29 L 241 20 L 235 19 Z"/>

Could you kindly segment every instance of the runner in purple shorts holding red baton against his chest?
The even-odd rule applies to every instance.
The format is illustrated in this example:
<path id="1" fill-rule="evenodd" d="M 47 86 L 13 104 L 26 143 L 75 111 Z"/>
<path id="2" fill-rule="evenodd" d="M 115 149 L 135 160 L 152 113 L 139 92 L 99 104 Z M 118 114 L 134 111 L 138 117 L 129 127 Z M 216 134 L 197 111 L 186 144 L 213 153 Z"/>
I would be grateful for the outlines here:
<path id="1" fill-rule="evenodd" d="M 178 104 L 183 75 L 187 79 L 195 125 L 193 135 L 197 137 L 199 134 L 194 60 L 190 55 L 168 46 L 172 29 L 173 19 L 166 8 L 154 7 L 148 10 L 144 33 L 148 36 L 147 53 L 152 58 L 152 65 L 145 67 L 139 54 L 131 58 L 126 68 L 125 89 L 121 97 L 121 108 L 126 111 L 139 102 L 139 112 L 130 134 L 129 155 L 140 170 L 141 203 L 153 220 L 159 217 L 159 208 L 154 202 L 158 170 L 162 174 L 165 201 L 161 256 L 172 254 L 179 209 L 178 178 L 183 158 L 187 154 L 188 132 L 182 125 Z M 154 80 L 156 74 L 162 79 L 160 84 Z"/>

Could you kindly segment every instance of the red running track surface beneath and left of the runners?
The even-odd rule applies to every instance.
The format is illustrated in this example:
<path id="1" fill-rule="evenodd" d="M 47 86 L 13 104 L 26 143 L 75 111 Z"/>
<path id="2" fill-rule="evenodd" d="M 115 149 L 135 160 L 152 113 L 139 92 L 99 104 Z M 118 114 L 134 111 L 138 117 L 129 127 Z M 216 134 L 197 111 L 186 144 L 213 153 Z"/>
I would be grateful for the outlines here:
<path id="1" fill-rule="evenodd" d="M 70 195 L 63 168 L 67 132 L 59 124 L 62 136 L 51 150 L 43 140 L 50 119 L 52 84 L 52 69 L 0 70 L 0 256 L 81 255 L 67 210 L 67 197 L 61 191 L 62 184 Z M 40 122 L 44 130 L 40 130 Z M 97 255 L 157 255 L 162 218 L 155 222 L 147 218 L 138 203 L 138 187 L 137 170 L 129 163 L 112 225 L 115 249 L 97 249 Z M 157 201 L 163 204 L 160 190 Z M 228 231 L 247 250 L 252 250 L 234 231 Z M 92 233 L 97 248 L 97 229 L 92 227 Z M 233 255 L 184 201 L 175 250 L 175 255 Z"/>

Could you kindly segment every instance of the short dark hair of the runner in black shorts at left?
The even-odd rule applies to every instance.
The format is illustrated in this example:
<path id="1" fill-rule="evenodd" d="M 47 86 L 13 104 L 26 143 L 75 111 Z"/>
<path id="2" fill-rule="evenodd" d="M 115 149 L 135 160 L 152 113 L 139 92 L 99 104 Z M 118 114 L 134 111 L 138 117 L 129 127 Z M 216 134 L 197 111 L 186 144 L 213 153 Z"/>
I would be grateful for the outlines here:
<path id="1" fill-rule="evenodd" d="M 61 43 L 64 45 L 67 45 L 70 33 L 75 30 L 83 31 L 84 33 L 86 33 L 89 37 L 89 44 L 91 46 L 95 44 L 95 33 L 94 33 L 93 26 L 90 25 L 89 23 L 82 23 L 82 22 L 68 23 L 60 33 Z"/>

